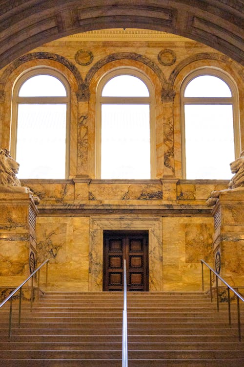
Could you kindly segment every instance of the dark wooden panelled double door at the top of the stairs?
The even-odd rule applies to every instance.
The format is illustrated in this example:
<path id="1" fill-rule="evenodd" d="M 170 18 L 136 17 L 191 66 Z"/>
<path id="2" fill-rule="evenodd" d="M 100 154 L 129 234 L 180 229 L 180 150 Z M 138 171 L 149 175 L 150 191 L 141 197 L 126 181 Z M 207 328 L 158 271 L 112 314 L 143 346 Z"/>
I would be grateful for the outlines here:
<path id="1" fill-rule="evenodd" d="M 127 291 L 148 291 L 148 231 L 104 231 L 103 246 L 103 290 L 123 290 L 125 259 Z"/>

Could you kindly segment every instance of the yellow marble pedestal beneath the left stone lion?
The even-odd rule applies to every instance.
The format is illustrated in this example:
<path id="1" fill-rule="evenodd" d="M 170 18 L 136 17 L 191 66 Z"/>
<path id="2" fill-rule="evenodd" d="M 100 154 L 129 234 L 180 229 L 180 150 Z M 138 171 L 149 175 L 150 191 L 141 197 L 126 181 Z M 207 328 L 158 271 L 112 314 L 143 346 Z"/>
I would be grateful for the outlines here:
<path id="1" fill-rule="evenodd" d="M 25 280 L 37 261 L 37 207 L 27 193 L 0 193 L 0 287 Z"/>

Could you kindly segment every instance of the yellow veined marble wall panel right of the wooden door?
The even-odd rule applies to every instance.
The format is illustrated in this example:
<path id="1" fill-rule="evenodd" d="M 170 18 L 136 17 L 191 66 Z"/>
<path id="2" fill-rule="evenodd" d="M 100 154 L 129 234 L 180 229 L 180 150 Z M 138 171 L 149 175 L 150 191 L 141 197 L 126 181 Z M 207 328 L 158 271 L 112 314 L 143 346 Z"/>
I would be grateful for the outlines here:
<path id="1" fill-rule="evenodd" d="M 213 263 L 213 218 L 163 218 L 163 290 L 201 290 L 201 263 Z"/>

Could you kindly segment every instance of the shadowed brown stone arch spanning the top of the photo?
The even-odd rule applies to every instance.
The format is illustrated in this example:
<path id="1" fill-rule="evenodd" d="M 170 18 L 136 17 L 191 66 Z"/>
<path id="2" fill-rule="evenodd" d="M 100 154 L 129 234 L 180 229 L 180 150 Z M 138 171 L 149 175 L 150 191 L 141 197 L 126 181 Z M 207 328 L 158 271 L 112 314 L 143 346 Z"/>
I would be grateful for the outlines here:
<path id="1" fill-rule="evenodd" d="M 244 64 L 243 0 L 0 0 L 0 68 L 67 35 L 104 28 L 170 32 Z"/>

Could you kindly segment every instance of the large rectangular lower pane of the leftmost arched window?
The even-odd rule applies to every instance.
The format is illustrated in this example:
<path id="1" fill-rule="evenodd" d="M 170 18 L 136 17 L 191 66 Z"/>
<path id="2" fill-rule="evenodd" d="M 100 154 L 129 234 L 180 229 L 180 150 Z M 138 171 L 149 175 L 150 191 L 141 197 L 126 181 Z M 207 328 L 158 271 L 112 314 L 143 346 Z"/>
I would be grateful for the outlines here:
<path id="1" fill-rule="evenodd" d="M 65 178 L 65 104 L 20 104 L 17 154 L 19 178 Z"/>

